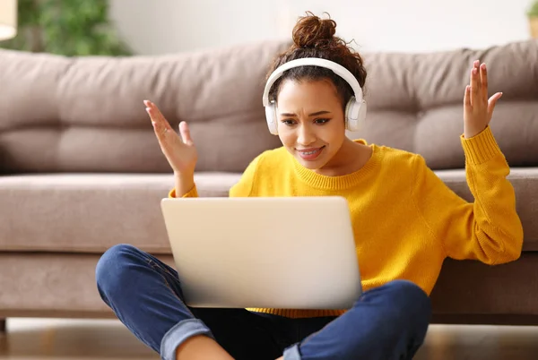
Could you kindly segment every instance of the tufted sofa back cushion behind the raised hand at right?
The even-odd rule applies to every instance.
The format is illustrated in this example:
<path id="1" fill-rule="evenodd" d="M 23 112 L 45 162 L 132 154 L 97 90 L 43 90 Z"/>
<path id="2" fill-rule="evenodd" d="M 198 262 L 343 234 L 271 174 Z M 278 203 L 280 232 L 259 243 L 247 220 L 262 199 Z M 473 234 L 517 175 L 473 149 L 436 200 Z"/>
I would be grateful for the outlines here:
<path id="1" fill-rule="evenodd" d="M 420 153 L 433 169 L 464 167 L 464 89 L 473 61 L 488 68 L 489 92 L 503 92 L 490 126 L 512 167 L 538 166 L 538 40 L 482 50 L 365 54 L 363 137 Z"/>

